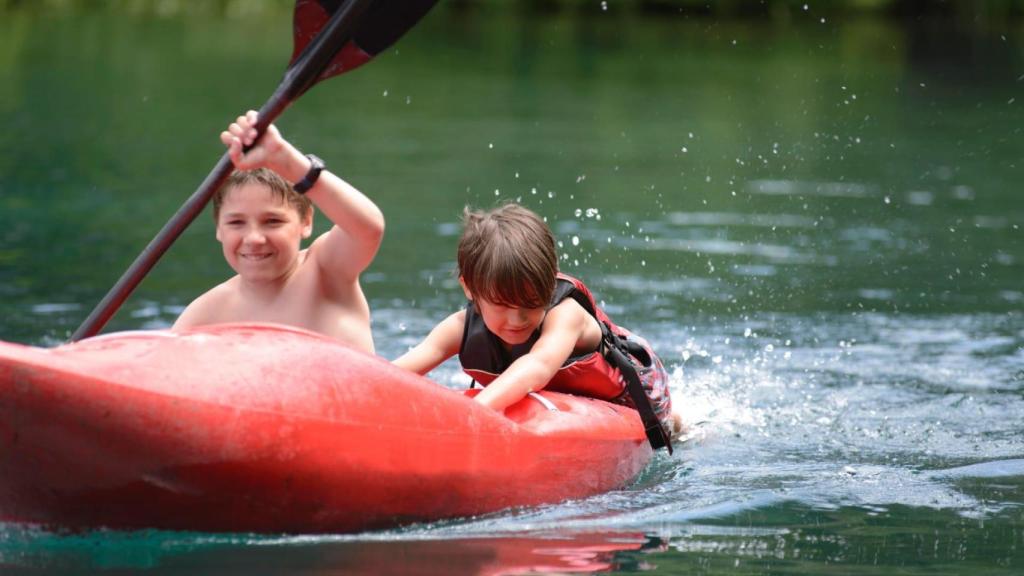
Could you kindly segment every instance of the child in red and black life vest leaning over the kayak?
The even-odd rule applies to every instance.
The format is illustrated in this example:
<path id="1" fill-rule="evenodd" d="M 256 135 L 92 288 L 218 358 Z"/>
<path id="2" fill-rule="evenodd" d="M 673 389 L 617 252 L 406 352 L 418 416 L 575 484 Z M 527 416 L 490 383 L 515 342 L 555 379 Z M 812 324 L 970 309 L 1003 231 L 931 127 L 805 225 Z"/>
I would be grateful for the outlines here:
<path id="1" fill-rule="evenodd" d="M 662 362 L 612 324 L 582 282 L 559 274 L 548 225 L 517 204 L 467 208 L 463 223 L 459 283 L 469 302 L 394 364 L 426 374 L 458 355 L 485 385 L 475 400 L 495 410 L 542 388 L 628 405 L 648 414 L 651 444 L 658 447 L 653 435 L 669 446 L 681 423 Z M 630 379 L 639 380 L 632 390 Z"/>

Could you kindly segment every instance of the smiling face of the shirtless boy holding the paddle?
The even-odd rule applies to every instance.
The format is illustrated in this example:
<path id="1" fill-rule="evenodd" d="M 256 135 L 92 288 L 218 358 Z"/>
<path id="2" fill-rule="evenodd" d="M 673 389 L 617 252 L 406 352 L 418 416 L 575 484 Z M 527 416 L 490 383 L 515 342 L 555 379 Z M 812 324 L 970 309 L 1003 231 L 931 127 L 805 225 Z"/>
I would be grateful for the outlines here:
<path id="1" fill-rule="evenodd" d="M 217 218 L 224 259 L 246 281 L 267 282 L 298 265 L 299 246 L 312 234 L 305 218 L 265 186 L 251 182 L 228 192 Z"/>

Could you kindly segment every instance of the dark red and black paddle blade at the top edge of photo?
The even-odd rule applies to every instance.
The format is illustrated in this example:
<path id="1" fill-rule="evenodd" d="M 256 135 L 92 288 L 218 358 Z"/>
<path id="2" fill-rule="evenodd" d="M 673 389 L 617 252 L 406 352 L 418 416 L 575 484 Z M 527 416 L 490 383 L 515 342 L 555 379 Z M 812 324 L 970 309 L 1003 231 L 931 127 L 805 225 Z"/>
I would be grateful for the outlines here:
<path id="1" fill-rule="evenodd" d="M 294 64 L 331 16 L 351 0 L 298 0 L 295 3 Z M 351 37 L 316 78 L 316 82 L 354 70 L 394 44 L 437 0 L 375 0 Z"/>

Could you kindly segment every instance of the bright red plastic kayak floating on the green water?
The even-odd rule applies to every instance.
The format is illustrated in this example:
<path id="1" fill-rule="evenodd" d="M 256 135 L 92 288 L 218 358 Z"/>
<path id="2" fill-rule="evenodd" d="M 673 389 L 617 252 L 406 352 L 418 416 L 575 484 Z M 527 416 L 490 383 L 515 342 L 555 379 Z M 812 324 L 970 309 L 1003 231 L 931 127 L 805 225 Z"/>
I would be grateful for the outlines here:
<path id="1" fill-rule="evenodd" d="M 651 458 L 629 408 L 504 414 L 324 336 L 238 324 L 0 342 L 0 520 L 353 532 L 580 498 Z"/>

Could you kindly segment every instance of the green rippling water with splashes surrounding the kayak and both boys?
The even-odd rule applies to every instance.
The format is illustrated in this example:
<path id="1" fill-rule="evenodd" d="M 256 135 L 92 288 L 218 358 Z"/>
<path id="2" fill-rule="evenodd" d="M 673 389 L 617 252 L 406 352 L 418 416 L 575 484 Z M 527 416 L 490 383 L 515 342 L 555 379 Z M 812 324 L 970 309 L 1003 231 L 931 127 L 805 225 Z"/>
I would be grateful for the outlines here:
<path id="1" fill-rule="evenodd" d="M 1019 28 L 615 8 L 442 5 L 280 126 L 388 218 L 379 354 L 460 305 L 462 206 L 519 199 L 673 372 L 701 422 L 675 456 L 586 500 L 369 534 L 7 525 L 3 572 L 1020 573 Z M 6 9 L 0 338 L 84 319 L 270 93 L 287 19 Z M 110 329 L 166 327 L 226 274 L 204 215 Z"/>

